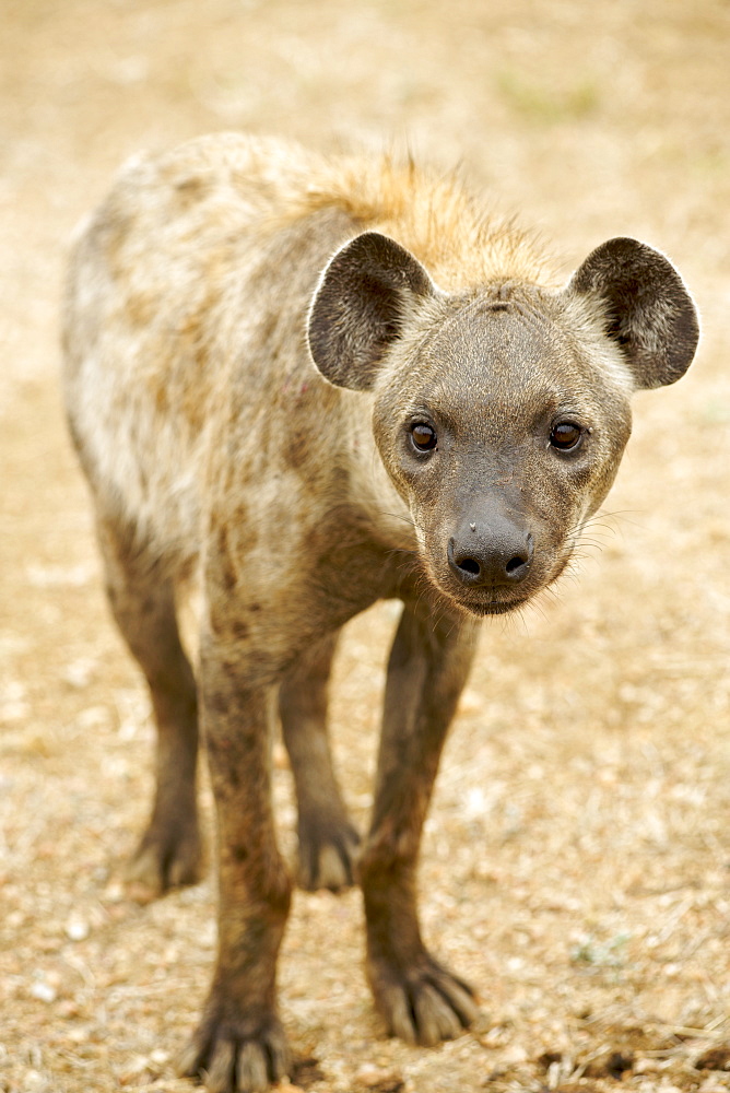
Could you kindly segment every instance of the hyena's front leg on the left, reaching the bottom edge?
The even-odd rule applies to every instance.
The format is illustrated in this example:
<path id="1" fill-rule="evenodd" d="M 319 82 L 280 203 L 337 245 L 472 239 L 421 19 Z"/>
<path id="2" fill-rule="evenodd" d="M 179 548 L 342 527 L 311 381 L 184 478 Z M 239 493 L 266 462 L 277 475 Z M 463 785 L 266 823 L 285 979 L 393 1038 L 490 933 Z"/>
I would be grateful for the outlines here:
<path id="1" fill-rule="evenodd" d="M 273 684 L 251 685 L 231 646 L 207 640 L 201 683 L 217 814 L 219 949 L 202 1020 L 179 1060 L 212 1093 L 260 1093 L 289 1070 L 276 957 L 291 900 L 271 803 Z"/>

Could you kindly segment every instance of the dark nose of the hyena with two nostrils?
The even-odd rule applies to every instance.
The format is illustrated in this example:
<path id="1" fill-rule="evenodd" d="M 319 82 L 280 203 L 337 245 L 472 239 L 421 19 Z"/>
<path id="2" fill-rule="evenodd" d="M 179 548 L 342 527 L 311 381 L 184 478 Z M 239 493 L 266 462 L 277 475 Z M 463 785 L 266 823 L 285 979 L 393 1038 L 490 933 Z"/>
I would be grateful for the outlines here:
<path id="1" fill-rule="evenodd" d="M 514 525 L 478 529 L 449 539 L 447 556 L 451 573 L 462 585 L 492 587 L 518 585 L 530 572 L 534 543 L 529 532 Z"/>

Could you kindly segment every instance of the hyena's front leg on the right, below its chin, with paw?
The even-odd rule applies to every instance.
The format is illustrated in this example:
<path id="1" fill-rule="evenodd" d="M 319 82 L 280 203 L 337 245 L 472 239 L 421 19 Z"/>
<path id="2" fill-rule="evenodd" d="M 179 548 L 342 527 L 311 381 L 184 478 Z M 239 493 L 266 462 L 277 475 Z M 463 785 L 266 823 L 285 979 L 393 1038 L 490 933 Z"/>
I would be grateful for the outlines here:
<path id="1" fill-rule="evenodd" d="M 478 623 L 407 604 L 388 665 L 370 832 L 360 862 L 367 973 L 391 1033 L 411 1043 L 456 1036 L 476 1015 L 471 988 L 421 938 L 416 867 L 446 732 L 471 663 Z"/>

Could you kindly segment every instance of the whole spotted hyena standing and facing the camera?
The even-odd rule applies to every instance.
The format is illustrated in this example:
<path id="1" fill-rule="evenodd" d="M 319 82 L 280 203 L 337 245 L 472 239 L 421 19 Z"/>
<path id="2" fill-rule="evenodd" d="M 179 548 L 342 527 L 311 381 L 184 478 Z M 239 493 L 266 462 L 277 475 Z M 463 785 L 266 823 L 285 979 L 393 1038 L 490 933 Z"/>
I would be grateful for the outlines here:
<path id="1" fill-rule="evenodd" d="M 66 397 L 111 609 L 157 722 L 152 819 L 131 866 L 193 881 L 198 722 L 217 810 L 219 953 L 182 1070 L 211 1090 L 286 1072 L 276 954 L 278 714 L 299 880 L 356 877 L 388 1029 L 436 1044 L 474 1016 L 425 948 L 419 844 L 479 621 L 570 559 L 631 431 L 629 396 L 697 341 L 662 255 L 599 246 L 567 284 L 455 180 L 242 136 L 122 172 L 75 247 Z M 176 592 L 199 576 L 199 662 Z M 402 600 L 375 801 L 360 845 L 332 771 L 327 683 L 343 624 Z"/>

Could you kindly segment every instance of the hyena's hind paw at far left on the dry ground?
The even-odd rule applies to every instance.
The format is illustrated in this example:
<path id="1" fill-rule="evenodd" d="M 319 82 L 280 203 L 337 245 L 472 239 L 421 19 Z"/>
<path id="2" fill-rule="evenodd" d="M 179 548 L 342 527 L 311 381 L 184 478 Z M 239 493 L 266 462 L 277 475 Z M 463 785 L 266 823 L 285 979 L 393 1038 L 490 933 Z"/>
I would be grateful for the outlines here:
<path id="1" fill-rule="evenodd" d="M 185 823 L 150 824 L 127 866 L 125 880 L 132 898 L 148 903 L 168 889 L 196 884 L 201 874 L 202 848 L 193 815 Z"/>

